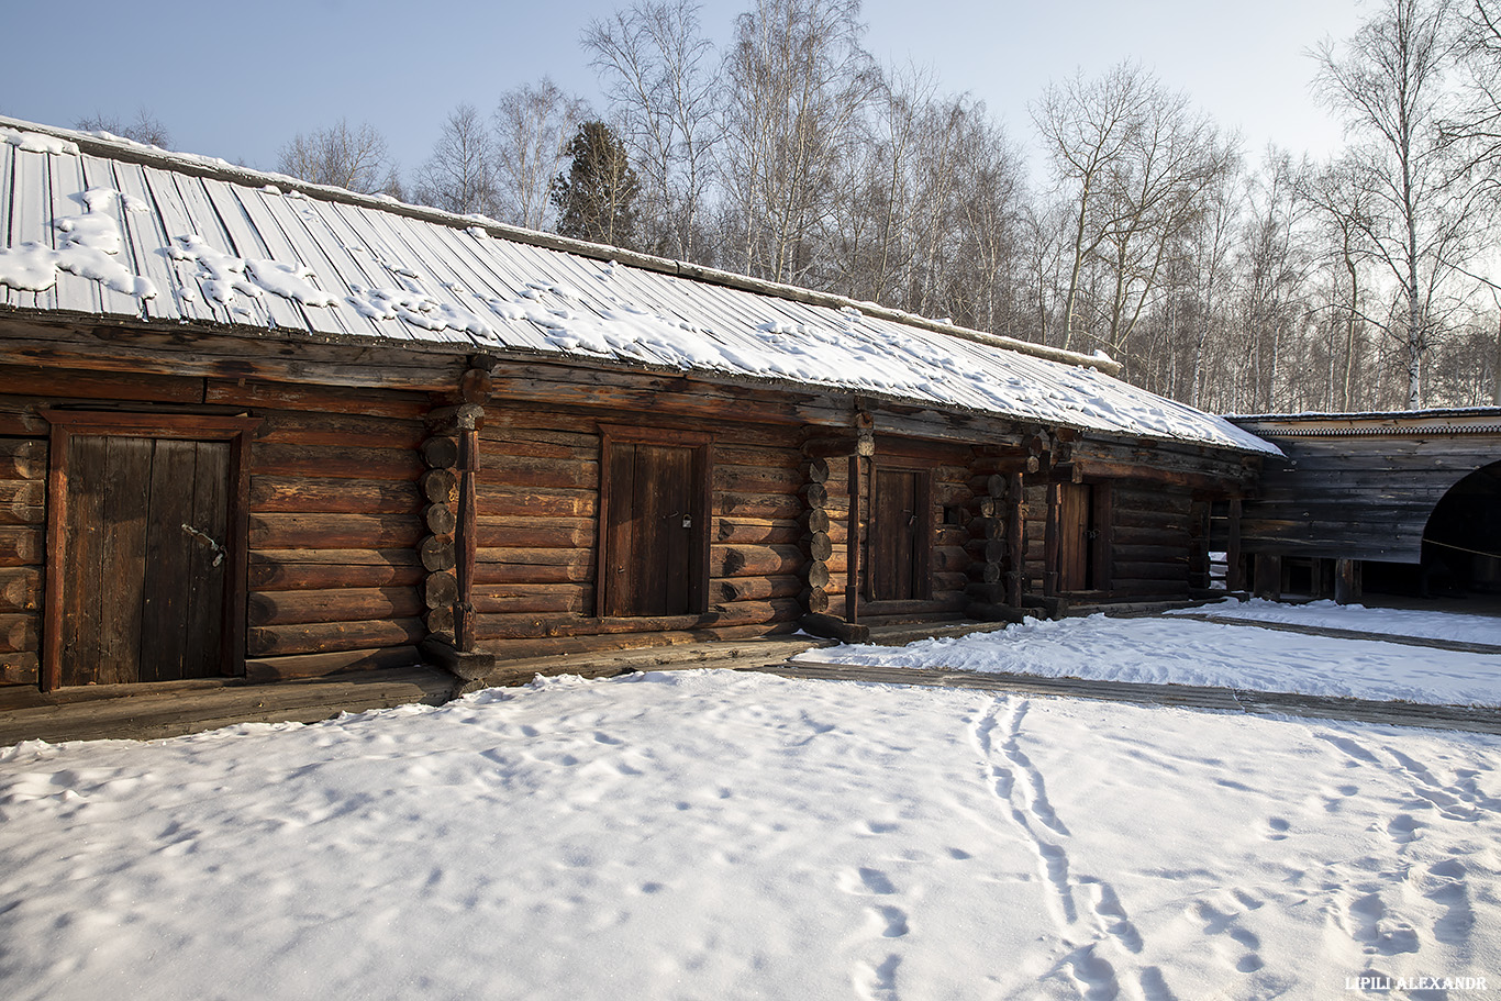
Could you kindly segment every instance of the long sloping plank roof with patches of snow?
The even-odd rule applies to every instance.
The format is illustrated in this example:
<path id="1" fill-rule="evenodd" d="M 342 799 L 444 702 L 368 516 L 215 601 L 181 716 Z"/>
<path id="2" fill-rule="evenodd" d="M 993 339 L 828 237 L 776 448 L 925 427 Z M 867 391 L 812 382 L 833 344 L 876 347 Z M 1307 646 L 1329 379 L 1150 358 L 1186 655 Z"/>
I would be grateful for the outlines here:
<path id="1" fill-rule="evenodd" d="M 0 117 L 0 305 L 791 381 L 1277 453 L 1108 359 Z"/>

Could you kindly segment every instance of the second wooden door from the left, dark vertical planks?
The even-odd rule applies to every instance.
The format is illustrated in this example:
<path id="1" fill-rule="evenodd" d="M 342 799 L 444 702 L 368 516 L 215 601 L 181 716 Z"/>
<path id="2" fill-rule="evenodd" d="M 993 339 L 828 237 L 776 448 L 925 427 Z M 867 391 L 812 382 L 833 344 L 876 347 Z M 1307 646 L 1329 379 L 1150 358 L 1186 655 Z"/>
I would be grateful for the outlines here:
<path id="1" fill-rule="evenodd" d="M 605 615 L 686 615 L 693 609 L 702 531 L 695 449 L 612 443 L 605 519 Z M 602 582 L 603 584 L 603 582 Z"/>

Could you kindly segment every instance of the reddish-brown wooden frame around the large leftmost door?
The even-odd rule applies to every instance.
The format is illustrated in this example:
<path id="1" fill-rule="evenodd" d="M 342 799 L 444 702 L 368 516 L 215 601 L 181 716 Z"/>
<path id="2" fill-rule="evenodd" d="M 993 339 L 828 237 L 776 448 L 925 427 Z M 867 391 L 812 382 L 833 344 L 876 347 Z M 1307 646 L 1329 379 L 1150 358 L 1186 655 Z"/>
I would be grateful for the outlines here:
<path id="1" fill-rule="evenodd" d="M 68 453 L 74 435 L 168 438 L 174 441 L 227 441 L 230 495 L 225 543 L 224 627 L 219 665 L 225 675 L 245 674 L 246 590 L 249 566 L 251 435 L 260 417 L 224 414 L 141 414 L 42 408 L 51 425 L 47 471 L 47 597 L 42 617 L 41 686 L 51 692 L 63 683 L 63 567 L 66 566 Z"/>

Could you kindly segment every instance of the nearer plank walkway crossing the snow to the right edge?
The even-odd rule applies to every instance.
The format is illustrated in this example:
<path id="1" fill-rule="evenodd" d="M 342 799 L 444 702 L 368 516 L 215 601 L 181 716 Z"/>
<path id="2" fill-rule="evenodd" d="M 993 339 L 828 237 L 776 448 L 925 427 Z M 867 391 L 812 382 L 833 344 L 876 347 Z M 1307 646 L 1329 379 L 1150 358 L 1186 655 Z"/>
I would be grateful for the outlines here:
<path id="1" fill-rule="evenodd" d="M 923 687 L 973 689 L 1021 695 L 1052 695 L 1138 705 L 1177 705 L 1220 713 L 1255 716 L 1304 716 L 1348 719 L 1394 726 L 1427 726 L 1501 734 L 1501 710 L 1469 705 L 1424 705 L 1421 702 L 1378 702 L 1372 699 L 1294 695 L 1286 692 L 1246 692 L 1195 684 L 1144 684 L 1138 681 L 1087 681 L 1082 678 L 1045 678 L 1031 674 L 982 674 L 946 668 L 875 668 L 820 660 L 785 660 L 737 668 L 776 674 L 784 678 L 824 681 L 874 681 Z"/>

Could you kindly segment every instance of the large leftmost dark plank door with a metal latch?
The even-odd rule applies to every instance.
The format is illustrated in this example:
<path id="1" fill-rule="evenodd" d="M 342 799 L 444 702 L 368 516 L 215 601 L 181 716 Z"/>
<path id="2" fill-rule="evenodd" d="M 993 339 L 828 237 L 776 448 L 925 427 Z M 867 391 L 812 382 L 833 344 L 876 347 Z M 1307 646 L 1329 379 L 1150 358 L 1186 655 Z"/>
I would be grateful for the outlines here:
<path id="1" fill-rule="evenodd" d="M 68 440 L 62 683 L 224 669 L 230 443 Z"/>

